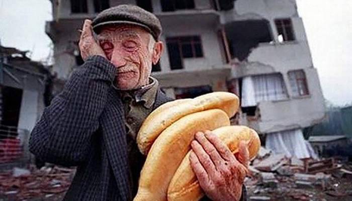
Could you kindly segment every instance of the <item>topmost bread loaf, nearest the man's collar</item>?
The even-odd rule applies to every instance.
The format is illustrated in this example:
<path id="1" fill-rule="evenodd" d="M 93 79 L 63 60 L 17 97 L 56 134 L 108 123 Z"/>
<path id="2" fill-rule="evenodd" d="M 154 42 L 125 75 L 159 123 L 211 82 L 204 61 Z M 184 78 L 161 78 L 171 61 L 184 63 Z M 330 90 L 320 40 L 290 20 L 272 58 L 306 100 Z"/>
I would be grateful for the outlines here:
<path id="1" fill-rule="evenodd" d="M 143 122 L 137 135 L 140 152 L 146 155 L 160 133 L 186 115 L 210 109 L 223 110 L 231 118 L 238 109 L 239 99 L 230 92 L 217 91 L 189 100 L 174 100 L 154 110 Z"/>

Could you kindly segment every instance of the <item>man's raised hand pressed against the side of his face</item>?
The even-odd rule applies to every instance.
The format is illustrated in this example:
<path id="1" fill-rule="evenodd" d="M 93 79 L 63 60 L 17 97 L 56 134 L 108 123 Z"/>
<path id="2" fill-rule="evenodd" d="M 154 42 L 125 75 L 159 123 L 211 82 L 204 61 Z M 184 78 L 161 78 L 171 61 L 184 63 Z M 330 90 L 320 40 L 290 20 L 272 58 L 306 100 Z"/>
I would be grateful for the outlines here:
<path id="1" fill-rule="evenodd" d="M 106 58 L 106 55 L 100 45 L 96 42 L 92 32 L 92 21 L 84 20 L 82 33 L 79 39 L 79 50 L 82 59 L 85 61 L 89 56 L 100 55 Z"/>

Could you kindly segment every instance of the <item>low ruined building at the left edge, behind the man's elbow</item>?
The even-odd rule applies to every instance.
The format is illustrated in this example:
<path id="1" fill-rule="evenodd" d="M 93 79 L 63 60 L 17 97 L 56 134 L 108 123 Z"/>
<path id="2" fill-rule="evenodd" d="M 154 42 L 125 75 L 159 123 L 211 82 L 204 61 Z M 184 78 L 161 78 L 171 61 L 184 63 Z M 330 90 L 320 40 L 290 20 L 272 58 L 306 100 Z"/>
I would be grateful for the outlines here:
<path id="1" fill-rule="evenodd" d="M 49 71 L 27 53 L 0 44 L 0 168 L 29 162 L 29 132 L 45 106 Z"/>

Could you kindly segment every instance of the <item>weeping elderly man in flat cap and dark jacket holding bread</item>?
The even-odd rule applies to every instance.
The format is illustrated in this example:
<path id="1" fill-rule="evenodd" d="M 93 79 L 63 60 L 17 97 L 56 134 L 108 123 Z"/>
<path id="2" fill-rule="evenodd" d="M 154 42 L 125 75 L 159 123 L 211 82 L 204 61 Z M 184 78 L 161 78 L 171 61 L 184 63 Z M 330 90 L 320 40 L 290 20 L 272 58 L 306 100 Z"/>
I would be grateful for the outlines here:
<path id="1" fill-rule="evenodd" d="M 84 21 L 79 48 L 85 62 L 45 108 L 30 138 L 36 157 L 77 166 L 64 200 L 131 200 L 136 194 L 145 160 L 136 134 L 148 114 L 170 100 L 150 77 L 164 47 L 160 34 L 159 20 L 131 5 Z M 197 133 L 192 149 L 191 164 L 208 198 L 245 199 L 244 143 L 238 160 L 211 132 Z"/>

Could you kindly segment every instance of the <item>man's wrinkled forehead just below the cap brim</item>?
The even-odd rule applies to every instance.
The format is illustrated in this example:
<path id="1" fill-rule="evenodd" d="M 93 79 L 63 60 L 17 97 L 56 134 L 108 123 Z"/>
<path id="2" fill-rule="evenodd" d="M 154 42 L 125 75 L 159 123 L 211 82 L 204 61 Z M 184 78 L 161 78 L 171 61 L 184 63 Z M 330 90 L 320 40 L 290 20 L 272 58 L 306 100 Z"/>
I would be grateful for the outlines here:
<path id="1" fill-rule="evenodd" d="M 98 40 L 115 41 L 128 38 L 148 42 L 150 38 L 149 35 L 149 32 L 137 25 L 106 25 L 102 27 L 98 34 Z"/>

